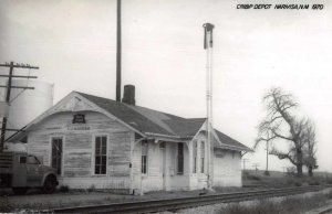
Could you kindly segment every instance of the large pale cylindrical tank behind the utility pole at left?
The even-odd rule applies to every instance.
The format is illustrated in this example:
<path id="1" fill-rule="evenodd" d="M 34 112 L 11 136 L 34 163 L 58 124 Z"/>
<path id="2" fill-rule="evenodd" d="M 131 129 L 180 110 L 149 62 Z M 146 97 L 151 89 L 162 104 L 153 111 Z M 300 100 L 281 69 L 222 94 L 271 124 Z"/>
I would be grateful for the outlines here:
<path id="1" fill-rule="evenodd" d="M 21 129 L 53 105 L 53 84 L 31 79 L 13 79 L 12 86 L 34 87 L 34 89 L 11 88 L 8 115 L 8 128 L 10 129 Z M 8 131 L 8 133 L 10 136 L 13 132 Z"/>

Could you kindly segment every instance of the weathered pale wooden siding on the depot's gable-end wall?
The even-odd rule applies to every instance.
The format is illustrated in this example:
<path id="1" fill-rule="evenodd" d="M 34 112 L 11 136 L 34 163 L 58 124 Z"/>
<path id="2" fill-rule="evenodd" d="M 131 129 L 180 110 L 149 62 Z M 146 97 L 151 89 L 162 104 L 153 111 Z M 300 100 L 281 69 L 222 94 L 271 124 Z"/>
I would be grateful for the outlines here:
<path id="1" fill-rule="evenodd" d="M 59 113 L 41 121 L 29 132 L 28 151 L 42 157 L 50 165 L 51 137 L 64 137 L 63 179 L 93 178 L 97 185 L 107 188 L 127 188 L 129 179 L 132 132 L 120 122 L 100 113 L 85 113 L 86 124 L 73 125 L 72 113 Z M 106 175 L 93 175 L 94 136 L 108 137 L 108 162 Z M 110 178 L 114 182 L 108 182 Z M 112 179 L 114 178 L 114 179 Z M 123 178 L 123 179 L 121 179 Z M 115 182 L 116 180 L 116 182 Z M 113 186 L 112 186 L 113 185 Z"/>

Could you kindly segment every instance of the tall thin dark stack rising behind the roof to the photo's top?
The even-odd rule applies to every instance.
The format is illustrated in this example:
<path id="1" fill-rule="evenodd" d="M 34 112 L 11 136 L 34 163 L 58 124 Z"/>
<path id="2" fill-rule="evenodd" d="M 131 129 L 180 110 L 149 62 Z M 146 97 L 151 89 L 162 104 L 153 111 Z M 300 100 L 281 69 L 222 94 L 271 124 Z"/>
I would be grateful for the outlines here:
<path id="1" fill-rule="evenodd" d="M 116 101 L 121 101 L 121 0 L 117 0 L 116 29 Z"/>

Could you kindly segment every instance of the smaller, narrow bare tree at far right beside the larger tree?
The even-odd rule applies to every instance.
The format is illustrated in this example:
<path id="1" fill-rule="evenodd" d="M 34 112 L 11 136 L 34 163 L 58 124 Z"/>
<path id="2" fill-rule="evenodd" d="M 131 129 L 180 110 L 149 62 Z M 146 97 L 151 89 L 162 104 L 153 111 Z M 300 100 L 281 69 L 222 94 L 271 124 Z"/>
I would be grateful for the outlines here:
<path id="1" fill-rule="evenodd" d="M 313 175 L 313 170 L 318 169 L 317 165 L 317 139 L 315 139 L 315 127 L 312 121 L 308 121 L 307 127 L 305 127 L 305 135 L 303 135 L 303 142 L 304 142 L 304 148 L 303 148 L 303 163 L 308 168 L 308 173 L 310 176 Z"/>

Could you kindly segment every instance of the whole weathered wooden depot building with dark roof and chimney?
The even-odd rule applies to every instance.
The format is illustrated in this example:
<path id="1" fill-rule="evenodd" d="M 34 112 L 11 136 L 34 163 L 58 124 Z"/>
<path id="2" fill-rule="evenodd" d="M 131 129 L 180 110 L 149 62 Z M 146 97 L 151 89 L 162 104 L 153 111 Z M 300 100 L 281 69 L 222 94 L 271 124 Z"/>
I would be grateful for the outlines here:
<path id="1" fill-rule="evenodd" d="M 13 142 L 58 169 L 70 189 L 127 193 L 241 186 L 248 147 L 212 129 L 205 118 L 181 118 L 135 106 L 134 87 L 122 103 L 72 92 L 30 122 Z"/>

